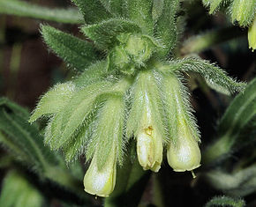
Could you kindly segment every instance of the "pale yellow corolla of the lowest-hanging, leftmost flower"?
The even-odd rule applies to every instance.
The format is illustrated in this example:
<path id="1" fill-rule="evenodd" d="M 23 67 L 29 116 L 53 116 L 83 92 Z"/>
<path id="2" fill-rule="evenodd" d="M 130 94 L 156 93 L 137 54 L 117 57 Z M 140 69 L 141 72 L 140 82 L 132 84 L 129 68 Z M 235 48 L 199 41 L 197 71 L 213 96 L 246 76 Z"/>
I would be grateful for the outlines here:
<path id="1" fill-rule="evenodd" d="M 117 175 L 116 151 L 109 154 L 102 169 L 97 166 L 96 156 L 94 156 L 84 177 L 84 186 L 87 193 L 107 197 L 114 190 Z"/>

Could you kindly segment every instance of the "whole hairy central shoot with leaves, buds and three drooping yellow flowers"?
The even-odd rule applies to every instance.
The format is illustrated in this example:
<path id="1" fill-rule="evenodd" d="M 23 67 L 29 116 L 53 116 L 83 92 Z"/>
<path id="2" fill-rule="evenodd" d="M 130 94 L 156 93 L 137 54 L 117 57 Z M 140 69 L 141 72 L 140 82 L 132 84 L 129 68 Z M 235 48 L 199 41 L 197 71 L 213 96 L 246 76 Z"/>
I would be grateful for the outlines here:
<path id="1" fill-rule="evenodd" d="M 239 92 L 215 64 L 177 59 L 177 0 L 73 0 L 85 18 L 85 41 L 41 26 L 45 42 L 78 72 L 55 85 L 30 122 L 49 118 L 45 144 L 63 150 L 67 162 L 92 159 L 85 190 L 109 196 L 128 141 L 137 141 L 139 164 L 157 172 L 163 147 L 175 171 L 200 166 L 200 133 L 192 115 L 183 72 L 194 72 L 219 92 Z M 172 59 L 170 59 L 170 56 Z"/>

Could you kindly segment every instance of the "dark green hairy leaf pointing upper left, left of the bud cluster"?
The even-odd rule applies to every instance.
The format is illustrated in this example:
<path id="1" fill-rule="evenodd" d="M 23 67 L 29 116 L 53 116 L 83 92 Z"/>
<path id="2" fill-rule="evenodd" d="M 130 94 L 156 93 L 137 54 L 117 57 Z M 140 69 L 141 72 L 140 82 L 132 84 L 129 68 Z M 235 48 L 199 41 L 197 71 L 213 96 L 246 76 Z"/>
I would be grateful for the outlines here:
<path id="1" fill-rule="evenodd" d="M 51 26 L 41 25 L 41 34 L 49 48 L 77 70 L 86 70 L 89 64 L 99 58 L 94 45 L 88 41 L 80 40 Z"/>

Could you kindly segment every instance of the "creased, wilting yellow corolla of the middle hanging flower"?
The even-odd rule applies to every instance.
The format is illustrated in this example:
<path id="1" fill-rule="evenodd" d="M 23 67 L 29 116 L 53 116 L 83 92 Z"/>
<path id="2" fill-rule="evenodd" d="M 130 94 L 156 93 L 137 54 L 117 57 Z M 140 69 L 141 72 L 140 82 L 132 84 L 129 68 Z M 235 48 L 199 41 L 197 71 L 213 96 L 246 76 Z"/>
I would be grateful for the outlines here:
<path id="1" fill-rule="evenodd" d="M 162 138 L 152 127 L 139 132 L 137 137 L 137 154 L 139 164 L 144 170 L 159 171 L 162 163 Z"/>

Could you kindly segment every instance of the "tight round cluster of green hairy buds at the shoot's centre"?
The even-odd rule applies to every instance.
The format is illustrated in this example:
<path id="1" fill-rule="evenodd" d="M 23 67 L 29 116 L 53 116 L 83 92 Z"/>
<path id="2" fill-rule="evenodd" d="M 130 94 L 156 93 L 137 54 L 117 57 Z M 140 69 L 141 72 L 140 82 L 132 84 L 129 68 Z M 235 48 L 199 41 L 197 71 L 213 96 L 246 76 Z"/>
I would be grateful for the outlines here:
<path id="1" fill-rule="evenodd" d="M 144 67 L 158 47 L 151 37 L 142 34 L 121 33 L 118 44 L 109 54 L 109 69 L 132 75 Z"/>

